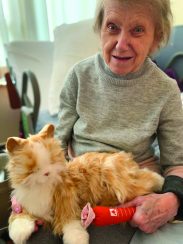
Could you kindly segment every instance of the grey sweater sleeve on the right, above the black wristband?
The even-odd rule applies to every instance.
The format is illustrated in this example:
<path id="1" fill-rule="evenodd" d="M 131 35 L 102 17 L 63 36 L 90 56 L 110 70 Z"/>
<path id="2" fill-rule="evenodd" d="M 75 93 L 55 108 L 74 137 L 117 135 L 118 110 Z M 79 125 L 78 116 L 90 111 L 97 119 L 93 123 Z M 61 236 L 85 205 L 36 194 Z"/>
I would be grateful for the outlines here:
<path id="1" fill-rule="evenodd" d="M 161 111 L 157 136 L 161 165 L 165 169 L 183 165 L 183 109 L 176 84 L 172 86 Z"/>

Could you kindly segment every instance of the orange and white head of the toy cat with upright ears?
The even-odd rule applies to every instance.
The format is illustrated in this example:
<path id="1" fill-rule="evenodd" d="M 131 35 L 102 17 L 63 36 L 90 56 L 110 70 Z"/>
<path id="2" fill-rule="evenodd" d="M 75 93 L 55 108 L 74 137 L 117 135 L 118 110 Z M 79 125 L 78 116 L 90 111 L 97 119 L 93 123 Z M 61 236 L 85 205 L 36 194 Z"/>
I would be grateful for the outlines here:
<path id="1" fill-rule="evenodd" d="M 56 181 L 65 167 L 64 152 L 60 142 L 54 139 L 51 124 L 27 139 L 8 138 L 6 149 L 9 154 L 7 170 L 13 188 Z"/>

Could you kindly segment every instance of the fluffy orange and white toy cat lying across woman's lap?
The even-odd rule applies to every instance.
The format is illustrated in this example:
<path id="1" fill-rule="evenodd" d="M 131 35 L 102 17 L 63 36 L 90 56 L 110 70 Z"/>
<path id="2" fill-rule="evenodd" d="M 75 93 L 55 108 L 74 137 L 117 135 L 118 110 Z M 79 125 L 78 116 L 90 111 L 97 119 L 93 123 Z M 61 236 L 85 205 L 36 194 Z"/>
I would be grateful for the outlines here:
<path id="1" fill-rule="evenodd" d="M 6 148 L 12 194 L 23 207 L 21 214 L 12 213 L 9 219 L 9 234 L 16 244 L 26 243 L 35 219 L 50 223 L 66 244 L 88 244 L 80 220 L 88 202 L 92 207 L 116 206 L 160 191 L 164 182 L 157 173 L 140 169 L 125 152 L 91 152 L 68 163 L 50 124 L 28 139 L 8 138 Z"/>

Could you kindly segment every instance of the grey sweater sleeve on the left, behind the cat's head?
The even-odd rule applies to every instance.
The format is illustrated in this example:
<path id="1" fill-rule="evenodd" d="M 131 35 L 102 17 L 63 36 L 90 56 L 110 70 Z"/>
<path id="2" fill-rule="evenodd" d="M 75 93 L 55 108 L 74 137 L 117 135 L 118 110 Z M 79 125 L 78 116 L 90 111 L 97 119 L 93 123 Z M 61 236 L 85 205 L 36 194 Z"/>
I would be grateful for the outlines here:
<path id="1" fill-rule="evenodd" d="M 76 101 L 77 78 L 73 68 L 68 73 L 60 94 L 60 107 L 58 113 L 59 123 L 56 128 L 56 137 L 61 141 L 63 149 L 68 148 L 73 126 L 78 119 Z"/>

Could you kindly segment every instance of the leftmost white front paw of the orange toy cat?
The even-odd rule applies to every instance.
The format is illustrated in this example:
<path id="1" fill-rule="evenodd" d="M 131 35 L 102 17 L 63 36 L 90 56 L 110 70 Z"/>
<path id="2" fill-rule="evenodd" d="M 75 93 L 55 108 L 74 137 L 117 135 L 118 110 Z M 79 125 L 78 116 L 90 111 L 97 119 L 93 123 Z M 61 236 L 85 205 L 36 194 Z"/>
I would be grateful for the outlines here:
<path id="1" fill-rule="evenodd" d="M 34 229 L 34 220 L 17 218 L 9 224 L 9 236 L 15 244 L 25 244 Z"/>

